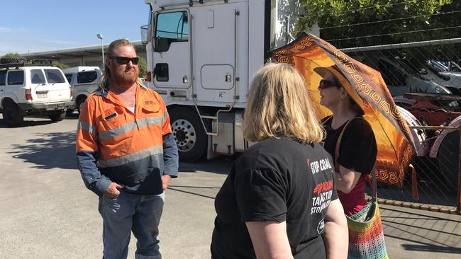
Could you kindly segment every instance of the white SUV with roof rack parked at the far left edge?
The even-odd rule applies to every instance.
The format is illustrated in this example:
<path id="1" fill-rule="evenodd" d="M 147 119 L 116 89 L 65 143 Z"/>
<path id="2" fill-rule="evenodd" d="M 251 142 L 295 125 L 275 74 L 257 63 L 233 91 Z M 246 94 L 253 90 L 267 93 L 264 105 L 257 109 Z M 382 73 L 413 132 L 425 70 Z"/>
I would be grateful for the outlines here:
<path id="1" fill-rule="evenodd" d="M 6 125 L 21 126 L 25 115 L 35 114 L 60 121 L 73 108 L 72 87 L 61 69 L 0 64 L 0 109 Z"/>

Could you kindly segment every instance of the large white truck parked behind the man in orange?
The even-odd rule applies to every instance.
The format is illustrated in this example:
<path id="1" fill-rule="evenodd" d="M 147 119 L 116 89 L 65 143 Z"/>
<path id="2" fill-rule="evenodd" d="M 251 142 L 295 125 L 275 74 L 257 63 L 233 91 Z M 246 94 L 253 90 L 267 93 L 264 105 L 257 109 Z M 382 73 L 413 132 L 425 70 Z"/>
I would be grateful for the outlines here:
<path id="1" fill-rule="evenodd" d="M 182 161 L 248 147 L 242 115 L 253 74 L 293 40 L 298 1 L 145 0 L 146 84 L 167 105 Z"/>

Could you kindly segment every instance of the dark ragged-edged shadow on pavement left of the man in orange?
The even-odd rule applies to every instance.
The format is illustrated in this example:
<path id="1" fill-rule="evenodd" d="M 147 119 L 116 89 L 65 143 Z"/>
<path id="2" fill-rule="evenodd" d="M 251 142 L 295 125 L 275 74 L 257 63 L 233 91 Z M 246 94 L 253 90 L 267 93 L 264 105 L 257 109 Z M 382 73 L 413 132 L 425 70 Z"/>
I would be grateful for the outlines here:
<path id="1" fill-rule="evenodd" d="M 34 163 L 35 168 L 77 169 L 75 131 L 35 134 L 26 144 L 14 144 L 12 149 L 9 154 Z"/>

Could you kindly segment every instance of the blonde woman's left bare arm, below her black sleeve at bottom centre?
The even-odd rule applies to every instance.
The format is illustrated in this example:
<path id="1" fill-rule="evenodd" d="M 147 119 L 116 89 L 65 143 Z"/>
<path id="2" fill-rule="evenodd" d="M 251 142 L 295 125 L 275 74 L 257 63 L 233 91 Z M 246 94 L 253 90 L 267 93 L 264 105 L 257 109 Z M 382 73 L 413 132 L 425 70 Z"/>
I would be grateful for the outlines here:
<path id="1" fill-rule="evenodd" d="M 248 233 L 258 259 L 293 258 L 287 236 L 287 223 L 248 221 Z"/>

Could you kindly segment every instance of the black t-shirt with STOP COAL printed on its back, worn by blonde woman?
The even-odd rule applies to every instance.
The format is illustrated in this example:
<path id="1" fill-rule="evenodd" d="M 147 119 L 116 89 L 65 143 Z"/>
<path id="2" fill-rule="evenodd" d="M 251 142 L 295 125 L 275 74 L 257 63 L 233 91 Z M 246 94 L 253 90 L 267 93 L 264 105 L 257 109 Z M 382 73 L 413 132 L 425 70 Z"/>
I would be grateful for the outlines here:
<path id="1" fill-rule="evenodd" d="M 294 258 L 325 258 L 323 219 L 338 198 L 333 167 L 317 143 L 272 138 L 251 146 L 216 195 L 212 258 L 255 258 L 247 221 L 287 221 Z"/>

